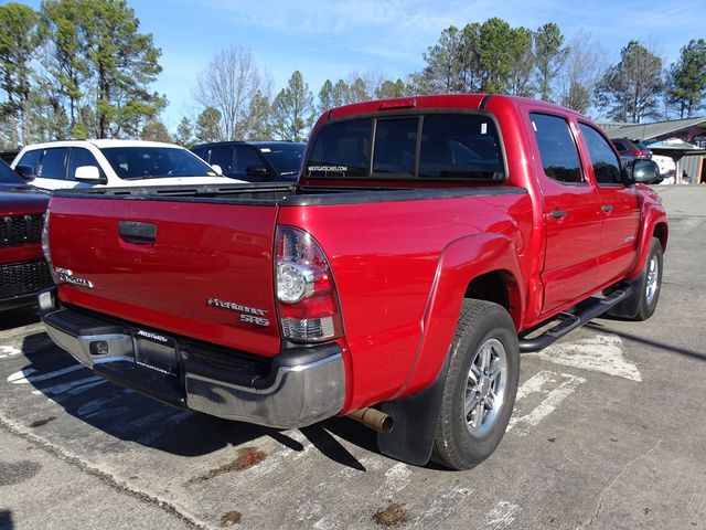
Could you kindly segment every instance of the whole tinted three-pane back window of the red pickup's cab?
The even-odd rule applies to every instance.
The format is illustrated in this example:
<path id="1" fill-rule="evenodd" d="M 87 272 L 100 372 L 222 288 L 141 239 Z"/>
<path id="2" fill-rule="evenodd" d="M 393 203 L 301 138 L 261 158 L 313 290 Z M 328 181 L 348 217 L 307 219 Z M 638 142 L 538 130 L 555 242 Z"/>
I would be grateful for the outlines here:
<path id="1" fill-rule="evenodd" d="M 315 136 L 309 178 L 503 181 L 498 129 L 480 114 L 428 114 L 335 121 Z"/>

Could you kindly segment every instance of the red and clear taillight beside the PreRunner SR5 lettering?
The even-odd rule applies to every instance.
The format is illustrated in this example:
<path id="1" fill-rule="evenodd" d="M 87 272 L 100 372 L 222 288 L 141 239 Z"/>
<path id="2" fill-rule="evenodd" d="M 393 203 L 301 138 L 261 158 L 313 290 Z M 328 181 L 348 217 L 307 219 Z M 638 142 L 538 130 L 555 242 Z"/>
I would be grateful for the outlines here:
<path id="1" fill-rule="evenodd" d="M 331 267 L 314 239 L 303 230 L 278 226 L 275 237 L 277 309 L 282 337 L 321 342 L 343 335 Z"/>

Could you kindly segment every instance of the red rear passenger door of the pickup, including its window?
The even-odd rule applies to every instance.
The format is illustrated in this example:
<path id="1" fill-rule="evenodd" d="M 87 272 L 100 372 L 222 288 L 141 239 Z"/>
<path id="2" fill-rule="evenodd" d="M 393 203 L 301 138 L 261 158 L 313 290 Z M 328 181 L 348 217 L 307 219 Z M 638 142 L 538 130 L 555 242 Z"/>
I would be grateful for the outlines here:
<path id="1" fill-rule="evenodd" d="M 546 253 L 543 314 L 587 294 L 598 282 L 600 206 L 580 163 L 570 121 L 545 110 L 526 115 L 536 142 L 535 172 L 544 195 Z"/>

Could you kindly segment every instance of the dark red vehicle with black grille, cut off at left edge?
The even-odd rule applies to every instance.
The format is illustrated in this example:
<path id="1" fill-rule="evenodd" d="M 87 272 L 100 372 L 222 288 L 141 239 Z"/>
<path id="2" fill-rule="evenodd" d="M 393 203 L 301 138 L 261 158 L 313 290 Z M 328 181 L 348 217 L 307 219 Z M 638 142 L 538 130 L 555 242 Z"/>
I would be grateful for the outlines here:
<path id="1" fill-rule="evenodd" d="M 52 284 L 41 245 L 47 202 L 0 161 L 0 310 L 34 305 Z"/>

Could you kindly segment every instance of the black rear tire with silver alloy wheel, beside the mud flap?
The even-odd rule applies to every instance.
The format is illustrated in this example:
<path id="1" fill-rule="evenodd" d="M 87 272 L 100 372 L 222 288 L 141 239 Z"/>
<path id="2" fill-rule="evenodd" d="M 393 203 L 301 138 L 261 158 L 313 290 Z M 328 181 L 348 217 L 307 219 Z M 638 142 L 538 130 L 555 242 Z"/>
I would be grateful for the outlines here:
<path id="1" fill-rule="evenodd" d="M 498 344 L 502 344 L 504 349 L 505 371 L 498 375 L 495 382 L 490 383 L 495 385 L 490 388 L 490 394 L 493 393 L 493 389 L 500 389 L 502 380 L 504 384 L 502 403 L 496 412 L 493 412 L 492 407 L 484 411 L 482 407 L 486 405 L 483 403 L 489 396 L 481 398 L 481 394 L 488 392 L 485 381 L 488 378 L 477 377 L 475 381 L 482 379 L 485 382 L 473 386 L 483 390 L 472 392 L 472 389 L 469 389 L 470 372 L 472 364 L 474 370 L 478 370 L 477 363 L 481 359 L 479 356 L 483 346 L 485 346 L 485 352 L 490 351 L 488 354 L 491 359 L 498 359 L 500 363 L 500 356 L 496 354 L 501 348 Z M 515 327 L 507 311 L 490 301 L 466 300 L 451 343 L 449 370 L 443 385 L 431 458 L 452 469 L 470 469 L 488 458 L 495 451 L 507 428 L 517 394 L 518 379 L 520 348 Z M 467 416 L 464 411 L 467 396 L 474 394 L 477 404 Z M 478 401 L 481 403 L 478 404 Z M 478 406 L 481 407 L 481 421 L 479 425 L 473 426 L 473 418 L 479 417 L 475 410 Z M 492 422 L 491 413 L 494 414 Z M 483 424 L 483 417 L 488 418 L 486 425 Z"/>

